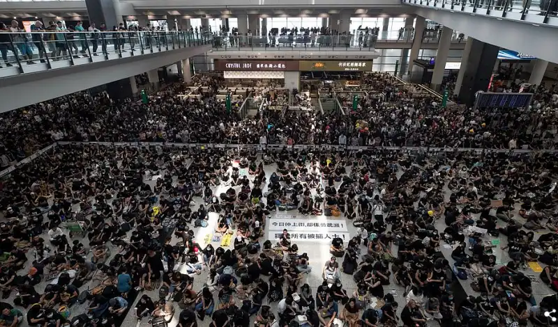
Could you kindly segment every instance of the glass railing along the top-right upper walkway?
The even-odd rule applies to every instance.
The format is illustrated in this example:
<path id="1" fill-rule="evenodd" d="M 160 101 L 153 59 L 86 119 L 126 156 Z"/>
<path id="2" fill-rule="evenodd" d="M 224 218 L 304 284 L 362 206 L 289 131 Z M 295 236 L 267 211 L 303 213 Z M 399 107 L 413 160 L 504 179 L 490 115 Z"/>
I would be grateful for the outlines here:
<path id="1" fill-rule="evenodd" d="M 558 0 L 402 0 L 402 3 L 558 25 Z"/>

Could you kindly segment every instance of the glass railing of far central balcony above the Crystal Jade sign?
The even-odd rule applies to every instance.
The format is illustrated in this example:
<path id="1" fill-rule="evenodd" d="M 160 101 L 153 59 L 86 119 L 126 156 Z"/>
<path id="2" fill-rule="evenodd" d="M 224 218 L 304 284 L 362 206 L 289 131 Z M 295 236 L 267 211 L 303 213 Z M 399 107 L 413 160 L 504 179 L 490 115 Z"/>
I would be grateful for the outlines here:
<path id="1" fill-rule="evenodd" d="M 437 43 L 441 34 L 437 31 L 425 30 L 423 43 Z M 269 50 L 289 51 L 312 49 L 317 51 L 370 51 L 375 49 L 379 42 L 409 43 L 414 41 L 414 30 L 380 31 L 377 34 L 360 34 L 359 32 L 346 35 L 214 35 L 213 49 L 216 51 L 234 50 Z M 460 37 L 454 33 L 452 41 L 461 42 L 465 36 Z"/>

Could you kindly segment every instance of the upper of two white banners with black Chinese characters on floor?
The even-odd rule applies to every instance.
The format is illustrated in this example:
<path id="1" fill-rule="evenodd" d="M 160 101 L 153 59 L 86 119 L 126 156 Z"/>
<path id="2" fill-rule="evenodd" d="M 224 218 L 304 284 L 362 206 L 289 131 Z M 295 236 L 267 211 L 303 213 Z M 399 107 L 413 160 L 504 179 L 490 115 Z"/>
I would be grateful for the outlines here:
<path id="1" fill-rule="evenodd" d="M 347 232 L 347 223 L 344 219 L 340 220 L 319 220 L 319 219 L 271 219 L 269 230 L 283 230 L 289 232 Z"/>

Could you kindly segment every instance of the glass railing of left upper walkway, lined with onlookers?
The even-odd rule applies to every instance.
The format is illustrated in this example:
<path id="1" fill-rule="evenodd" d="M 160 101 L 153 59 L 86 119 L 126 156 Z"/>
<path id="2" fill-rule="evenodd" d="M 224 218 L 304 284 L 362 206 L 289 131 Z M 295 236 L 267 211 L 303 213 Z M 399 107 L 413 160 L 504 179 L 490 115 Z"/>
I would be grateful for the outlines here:
<path id="1" fill-rule="evenodd" d="M 210 33 L 190 31 L 0 32 L 0 77 L 211 45 L 212 42 Z"/>

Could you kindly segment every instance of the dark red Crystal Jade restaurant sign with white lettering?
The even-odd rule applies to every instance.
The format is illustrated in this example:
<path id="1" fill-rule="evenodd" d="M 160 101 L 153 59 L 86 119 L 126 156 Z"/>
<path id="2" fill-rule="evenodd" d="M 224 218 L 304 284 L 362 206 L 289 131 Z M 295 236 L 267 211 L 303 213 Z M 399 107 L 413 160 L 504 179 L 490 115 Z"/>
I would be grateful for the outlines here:
<path id="1" fill-rule="evenodd" d="M 288 72 L 299 70 L 299 61 L 216 60 L 214 64 L 215 70 L 229 72 Z"/>

